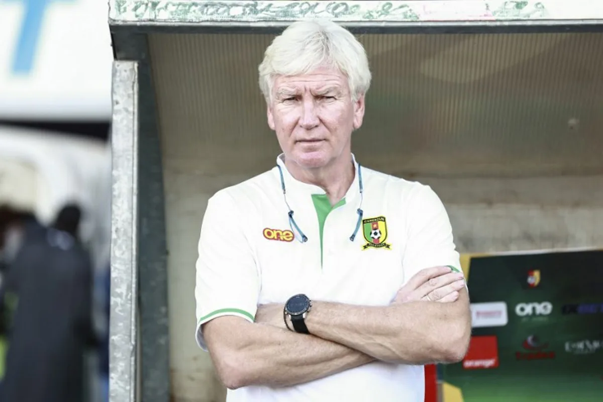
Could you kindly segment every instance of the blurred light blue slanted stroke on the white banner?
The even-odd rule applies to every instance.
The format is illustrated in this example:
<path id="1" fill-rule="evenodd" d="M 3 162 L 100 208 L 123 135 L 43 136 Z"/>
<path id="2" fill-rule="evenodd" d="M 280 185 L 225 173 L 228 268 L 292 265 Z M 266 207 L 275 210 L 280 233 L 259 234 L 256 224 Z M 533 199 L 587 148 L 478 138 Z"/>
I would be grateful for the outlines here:
<path id="1" fill-rule="evenodd" d="M 54 1 L 74 0 L 0 0 L 4 2 L 19 1 L 25 7 L 21 30 L 17 37 L 17 43 L 11 63 L 11 71 L 17 75 L 27 75 L 34 66 L 37 45 L 42 31 L 42 23 L 46 15 L 48 5 Z"/>

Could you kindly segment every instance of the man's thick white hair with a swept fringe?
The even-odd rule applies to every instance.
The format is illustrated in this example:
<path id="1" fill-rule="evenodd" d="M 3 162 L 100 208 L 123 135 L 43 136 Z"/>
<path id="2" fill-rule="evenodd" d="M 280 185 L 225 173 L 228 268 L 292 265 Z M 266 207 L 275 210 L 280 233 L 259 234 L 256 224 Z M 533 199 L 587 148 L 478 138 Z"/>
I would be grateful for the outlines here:
<path id="1" fill-rule="evenodd" d="M 346 75 L 354 101 L 368 91 L 367 54 L 352 33 L 330 20 L 302 20 L 289 25 L 266 49 L 258 68 L 264 98 L 271 101 L 279 75 L 308 74 L 321 67 L 335 67 Z"/>

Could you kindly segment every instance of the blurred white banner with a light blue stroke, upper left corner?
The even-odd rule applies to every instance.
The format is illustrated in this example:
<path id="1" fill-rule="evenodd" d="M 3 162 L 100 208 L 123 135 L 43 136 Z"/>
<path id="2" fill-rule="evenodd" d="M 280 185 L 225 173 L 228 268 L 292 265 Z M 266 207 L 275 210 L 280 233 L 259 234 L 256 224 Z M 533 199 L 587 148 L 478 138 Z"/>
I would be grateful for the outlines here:
<path id="1" fill-rule="evenodd" d="M 0 119 L 108 121 L 108 14 L 103 0 L 0 0 Z"/>

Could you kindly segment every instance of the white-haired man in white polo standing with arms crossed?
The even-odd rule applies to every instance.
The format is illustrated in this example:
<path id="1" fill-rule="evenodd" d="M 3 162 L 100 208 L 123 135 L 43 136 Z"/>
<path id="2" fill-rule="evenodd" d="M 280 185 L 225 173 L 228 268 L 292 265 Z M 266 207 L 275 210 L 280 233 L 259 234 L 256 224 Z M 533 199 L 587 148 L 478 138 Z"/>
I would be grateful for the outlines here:
<path id="1" fill-rule="evenodd" d="M 470 336 L 443 204 L 353 157 L 371 74 L 348 31 L 292 24 L 259 76 L 283 153 L 209 200 L 198 344 L 229 401 L 423 401 L 422 365 L 463 359 Z"/>

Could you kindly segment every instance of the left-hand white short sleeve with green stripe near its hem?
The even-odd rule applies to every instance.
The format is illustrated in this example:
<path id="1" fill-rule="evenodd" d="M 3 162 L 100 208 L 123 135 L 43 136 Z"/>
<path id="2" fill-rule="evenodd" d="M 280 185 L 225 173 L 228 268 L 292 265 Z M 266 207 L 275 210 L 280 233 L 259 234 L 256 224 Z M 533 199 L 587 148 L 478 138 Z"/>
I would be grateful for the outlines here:
<path id="1" fill-rule="evenodd" d="M 197 344 L 205 351 L 201 325 L 224 315 L 253 322 L 259 297 L 259 275 L 245 220 L 222 190 L 207 202 L 199 236 L 195 300 Z M 247 219 L 250 219 L 248 217 Z"/>

